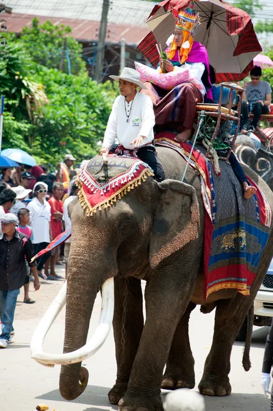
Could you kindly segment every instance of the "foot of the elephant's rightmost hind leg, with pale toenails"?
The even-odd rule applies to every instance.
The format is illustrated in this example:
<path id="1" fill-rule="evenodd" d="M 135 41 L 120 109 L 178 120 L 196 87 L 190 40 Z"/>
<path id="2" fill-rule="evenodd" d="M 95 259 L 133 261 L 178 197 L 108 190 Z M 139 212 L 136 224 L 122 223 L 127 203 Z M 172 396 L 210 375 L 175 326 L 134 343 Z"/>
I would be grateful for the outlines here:
<path id="1" fill-rule="evenodd" d="M 229 377 L 205 374 L 198 385 L 198 390 L 201 394 L 210 395 L 211 397 L 230 395 L 231 384 L 229 384 Z"/>

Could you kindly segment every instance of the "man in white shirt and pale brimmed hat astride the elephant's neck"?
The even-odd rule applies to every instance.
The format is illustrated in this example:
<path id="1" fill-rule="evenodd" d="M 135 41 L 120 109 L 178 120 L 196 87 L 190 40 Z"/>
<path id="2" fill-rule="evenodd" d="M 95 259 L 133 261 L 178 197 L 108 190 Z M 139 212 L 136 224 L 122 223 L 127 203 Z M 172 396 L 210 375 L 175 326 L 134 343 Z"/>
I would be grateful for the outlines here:
<path id="1" fill-rule="evenodd" d="M 118 138 L 123 152 L 133 151 L 140 160 L 153 169 L 157 181 L 164 180 L 164 170 L 153 146 L 155 125 L 153 103 L 150 97 L 137 91 L 138 87 L 146 88 L 140 82 L 140 73 L 125 67 L 119 77 L 116 75 L 109 77 L 118 82 L 120 96 L 114 101 L 105 130 L 103 148 L 99 153 L 108 155 L 114 140 Z"/>

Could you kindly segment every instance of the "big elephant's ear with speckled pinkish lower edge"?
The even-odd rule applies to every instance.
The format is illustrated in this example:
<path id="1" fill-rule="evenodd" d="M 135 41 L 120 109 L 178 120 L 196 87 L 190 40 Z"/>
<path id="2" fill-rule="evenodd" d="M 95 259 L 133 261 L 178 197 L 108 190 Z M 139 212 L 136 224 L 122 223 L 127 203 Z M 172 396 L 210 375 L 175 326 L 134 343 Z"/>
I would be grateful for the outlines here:
<path id="1" fill-rule="evenodd" d="M 155 268 L 162 260 L 198 237 L 199 204 L 194 187 L 166 179 L 158 184 L 162 190 L 155 212 L 150 241 L 150 264 Z"/>

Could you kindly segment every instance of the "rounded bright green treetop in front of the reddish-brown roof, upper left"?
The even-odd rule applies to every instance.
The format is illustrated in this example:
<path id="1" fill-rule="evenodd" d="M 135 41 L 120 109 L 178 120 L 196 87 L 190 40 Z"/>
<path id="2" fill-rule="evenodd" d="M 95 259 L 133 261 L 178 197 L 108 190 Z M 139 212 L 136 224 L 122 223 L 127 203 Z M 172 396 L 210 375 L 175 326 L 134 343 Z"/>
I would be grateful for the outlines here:
<path id="1" fill-rule="evenodd" d="M 21 42 L 29 53 L 31 60 L 64 73 L 79 74 L 86 70 L 81 58 L 82 47 L 70 36 L 71 28 L 64 25 L 53 25 L 50 21 L 39 25 L 34 18 L 31 27 L 24 27 Z"/>

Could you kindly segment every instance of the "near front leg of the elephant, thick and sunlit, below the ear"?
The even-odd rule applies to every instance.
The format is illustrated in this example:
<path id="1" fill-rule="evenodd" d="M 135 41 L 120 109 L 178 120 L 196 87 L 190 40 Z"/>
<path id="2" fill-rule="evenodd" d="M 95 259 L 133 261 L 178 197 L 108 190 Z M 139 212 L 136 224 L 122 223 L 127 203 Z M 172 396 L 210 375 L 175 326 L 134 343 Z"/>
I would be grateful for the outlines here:
<path id="1" fill-rule="evenodd" d="M 196 273 L 179 273 L 166 266 L 146 285 L 146 322 L 133 362 L 127 392 L 119 401 L 120 411 L 161 411 L 161 380 L 174 332 L 185 312 L 194 288 Z M 170 275 L 172 273 L 172 276 Z"/>

